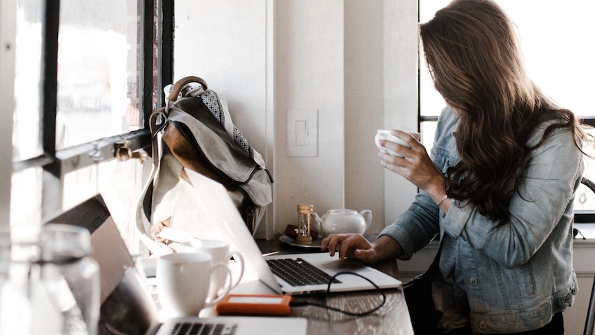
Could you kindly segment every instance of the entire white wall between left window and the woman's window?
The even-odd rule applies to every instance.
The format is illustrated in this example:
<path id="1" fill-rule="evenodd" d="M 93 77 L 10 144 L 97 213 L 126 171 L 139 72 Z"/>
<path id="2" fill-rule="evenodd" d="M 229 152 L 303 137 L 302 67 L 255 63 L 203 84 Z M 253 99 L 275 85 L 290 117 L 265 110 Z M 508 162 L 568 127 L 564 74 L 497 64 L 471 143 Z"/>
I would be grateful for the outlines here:
<path id="1" fill-rule="evenodd" d="M 175 10 L 175 78 L 198 75 L 226 97 L 273 172 L 268 238 L 295 224 L 298 203 L 371 209 L 372 232 L 407 208 L 416 189 L 383 172 L 373 136 L 417 131 L 417 1 L 178 0 Z M 288 110 L 318 111 L 316 157 L 288 157 Z"/>

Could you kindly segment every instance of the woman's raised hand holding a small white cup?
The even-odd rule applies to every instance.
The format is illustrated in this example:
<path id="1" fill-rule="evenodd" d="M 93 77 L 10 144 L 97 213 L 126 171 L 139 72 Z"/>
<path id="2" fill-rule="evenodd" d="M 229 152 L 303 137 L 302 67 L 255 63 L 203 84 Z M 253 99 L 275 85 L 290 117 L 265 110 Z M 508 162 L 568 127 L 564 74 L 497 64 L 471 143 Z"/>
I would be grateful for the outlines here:
<path id="1" fill-rule="evenodd" d="M 393 130 L 391 133 L 409 144 L 411 148 L 395 142 L 382 141 L 382 146 L 403 156 L 378 153 L 382 166 L 402 175 L 411 183 L 429 193 L 436 203 L 440 202 L 445 195 L 444 176 L 432 162 L 425 146 L 411 134 L 404 131 Z"/>

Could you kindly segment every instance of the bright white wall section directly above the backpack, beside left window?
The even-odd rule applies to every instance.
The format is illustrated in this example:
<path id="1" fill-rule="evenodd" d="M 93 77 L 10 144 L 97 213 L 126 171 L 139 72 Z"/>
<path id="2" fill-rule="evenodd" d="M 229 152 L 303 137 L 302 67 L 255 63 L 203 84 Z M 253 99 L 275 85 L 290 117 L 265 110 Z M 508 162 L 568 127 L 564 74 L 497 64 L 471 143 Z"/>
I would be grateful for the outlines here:
<path id="1" fill-rule="evenodd" d="M 266 1 L 175 2 L 174 79 L 196 75 L 227 99 L 233 122 L 264 155 Z"/>

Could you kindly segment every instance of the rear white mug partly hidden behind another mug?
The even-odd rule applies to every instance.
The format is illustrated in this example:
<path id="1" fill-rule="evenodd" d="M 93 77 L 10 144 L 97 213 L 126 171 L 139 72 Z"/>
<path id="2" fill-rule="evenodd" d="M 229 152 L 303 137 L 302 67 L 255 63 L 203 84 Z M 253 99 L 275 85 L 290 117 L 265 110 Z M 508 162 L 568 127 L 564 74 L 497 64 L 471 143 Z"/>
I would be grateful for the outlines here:
<path id="1" fill-rule="evenodd" d="M 229 277 L 231 289 L 236 287 L 240 283 L 240 280 L 242 280 L 242 276 L 244 276 L 244 257 L 237 251 L 229 252 L 229 242 L 225 240 L 193 240 L 192 242 L 184 242 L 179 245 L 178 251 L 180 253 L 208 253 L 213 257 L 213 264 L 226 265 L 231 271 L 231 277 Z M 232 257 L 235 263 L 229 262 Z M 226 287 L 228 280 L 228 276 L 222 271 L 213 274 L 213 276 L 215 278 L 208 293 L 209 298 L 217 296 Z"/>

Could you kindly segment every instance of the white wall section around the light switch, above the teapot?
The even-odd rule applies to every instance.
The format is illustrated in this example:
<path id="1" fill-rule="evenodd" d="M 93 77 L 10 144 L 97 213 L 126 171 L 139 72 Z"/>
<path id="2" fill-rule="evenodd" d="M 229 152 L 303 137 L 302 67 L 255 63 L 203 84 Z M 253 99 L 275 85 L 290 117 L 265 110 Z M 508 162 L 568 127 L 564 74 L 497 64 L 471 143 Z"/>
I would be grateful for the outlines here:
<path id="1" fill-rule="evenodd" d="M 275 2 L 275 223 L 344 207 L 344 1 Z M 287 157 L 288 110 L 318 111 L 318 156 Z"/>

